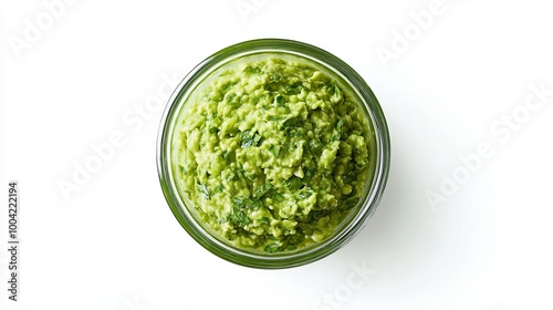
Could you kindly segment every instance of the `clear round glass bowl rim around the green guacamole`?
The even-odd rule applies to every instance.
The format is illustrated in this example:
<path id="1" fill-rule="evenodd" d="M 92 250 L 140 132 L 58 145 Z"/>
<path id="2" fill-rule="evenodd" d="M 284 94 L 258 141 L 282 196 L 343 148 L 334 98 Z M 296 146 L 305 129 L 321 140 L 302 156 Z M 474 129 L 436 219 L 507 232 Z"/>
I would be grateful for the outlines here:
<path id="1" fill-rule="evenodd" d="M 259 59 L 264 56 L 292 58 L 305 61 L 323 70 L 340 81 L 347 91 L 362 103 L 359 108 L 365 114 L 374 134 L 374 148 L 371 161 L 371 174 L 364 187 L 357 206 L 352 208 L 348 216 L 325 240 L 313 246 L 283 252 L 260 252 L 233 247 L 198 217 L 195 207 L 181 195 L 176 186 L 171 164 L 171 141 L 179 114 L 197 90 L 209 84 L 225 65 L 242 59 Z M 177 86 L 173 93 L 161 118 L 157 141 L 157 168 L 161 189 L 167 203 L 188 234 L 206 249 L 228 261 L 264 269 L 290 268 L 319 260 L 346 245 L 366 225 L 367 219 L 375 211 L 383 195 L 390 159 L 388 128 L 384 113 L 365 81 L 349 65 L 333 54 L 298 41 L 282 39 L 260 39 L 241 42 L 228 46 L 198 64 Z"/>

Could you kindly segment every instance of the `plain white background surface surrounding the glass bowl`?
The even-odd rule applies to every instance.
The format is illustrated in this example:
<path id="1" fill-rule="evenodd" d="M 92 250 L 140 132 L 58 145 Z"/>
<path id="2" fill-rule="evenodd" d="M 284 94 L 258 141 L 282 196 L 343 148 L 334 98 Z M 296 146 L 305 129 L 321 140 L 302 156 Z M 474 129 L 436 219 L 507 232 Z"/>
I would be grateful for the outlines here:
<path id="1" fill-rule="evenodd" d="M 55 17 L 52 2 L 0 4 L 1 309 L 553 309 L 551 1 L 77 0 Z M 255 38 L 304 41 L 351 64 L 393 144 L 366 228 L 289 270 L 205 250 L 157 178 L 158 89 Z M 531 85 L 541 84 L 539 105 Z M 508 130 L 513 111 L 520 122 Z M 65 199 L 59 183 L 113 134 L 123 145 Z M 460 157 L 482 143 L 491 155 L 469 170 Z M 462 180 L 455 193 L 440 189 L 449 177 Z M 6 290 L 11 179 L 21 195 L 18 302 Z M 444 195 L 434 208 L 430 190 Z"/>

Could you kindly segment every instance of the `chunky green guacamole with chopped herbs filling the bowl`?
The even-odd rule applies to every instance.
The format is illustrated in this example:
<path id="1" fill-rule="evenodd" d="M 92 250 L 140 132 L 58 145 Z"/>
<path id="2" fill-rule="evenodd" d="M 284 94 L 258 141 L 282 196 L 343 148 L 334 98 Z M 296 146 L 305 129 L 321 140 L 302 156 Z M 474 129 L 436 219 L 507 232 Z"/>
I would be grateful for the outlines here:
<path id="1" fill-rule="evenodd" d="M 268 56 L 219 70 L 180 112 L 180 195 L 234 247 L 290 251 L 335 232 L 374 169 L 367 116 L 324 70 Z"/>

